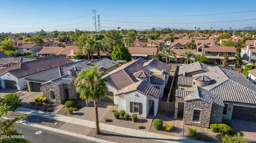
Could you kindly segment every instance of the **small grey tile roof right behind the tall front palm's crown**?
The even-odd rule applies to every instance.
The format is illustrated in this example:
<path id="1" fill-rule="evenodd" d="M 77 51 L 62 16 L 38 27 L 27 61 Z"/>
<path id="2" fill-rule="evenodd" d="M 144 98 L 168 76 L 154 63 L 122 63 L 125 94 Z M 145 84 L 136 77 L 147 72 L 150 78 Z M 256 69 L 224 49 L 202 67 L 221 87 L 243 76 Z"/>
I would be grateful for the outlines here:
<path id="1" fill-rule="evenodd" d="M 100 58 L 99 60 L 95 60 L 95 61 L 92 61 L 88 64 L 92 64 L 92 65 L 99 65 L 100 67 L 102 67 L 103 69 L 107 70 L 107 69 L 110 69 L 112 68 L 113 66 L 116 66 L 118 65 L 117 62 L 113 61 L 113 60 L 110 60 L 109 58 L 107 57 L 103 57 L 103 58 Z"/>

